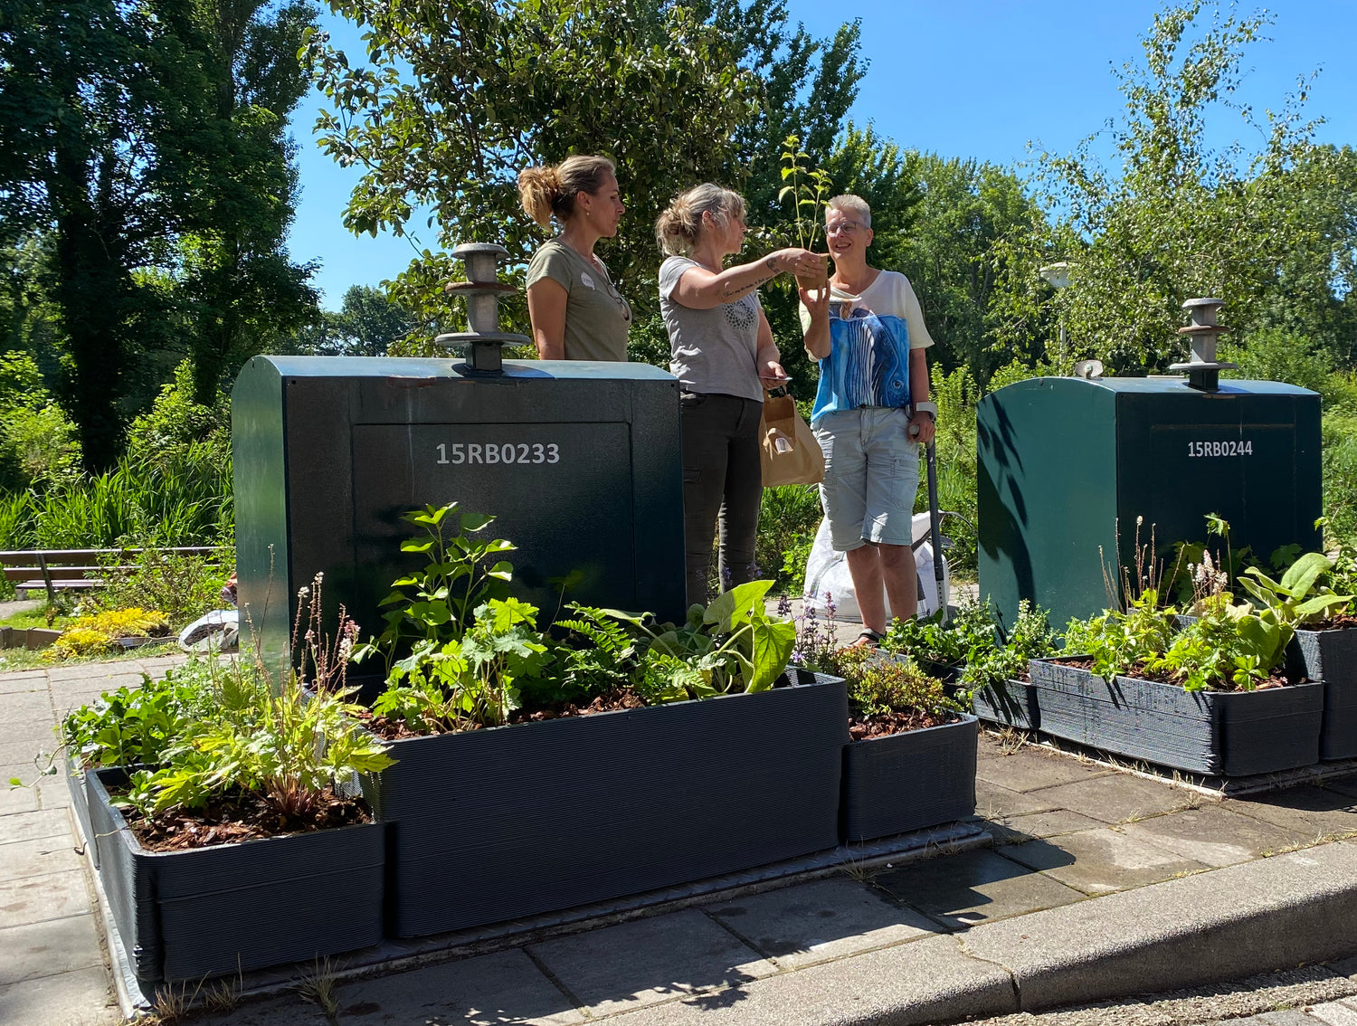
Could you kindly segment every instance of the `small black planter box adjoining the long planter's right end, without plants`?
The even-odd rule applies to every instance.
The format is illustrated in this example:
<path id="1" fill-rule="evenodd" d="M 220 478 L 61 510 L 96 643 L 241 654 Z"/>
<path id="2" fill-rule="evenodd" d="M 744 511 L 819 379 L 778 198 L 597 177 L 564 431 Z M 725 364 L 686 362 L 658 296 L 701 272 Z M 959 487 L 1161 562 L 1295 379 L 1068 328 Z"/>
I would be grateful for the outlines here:
<path id="1" fill-rule="evenodd" d="M 889 837 L 976 812 L 974 717 L 844 746 L 840 839 Z"/>

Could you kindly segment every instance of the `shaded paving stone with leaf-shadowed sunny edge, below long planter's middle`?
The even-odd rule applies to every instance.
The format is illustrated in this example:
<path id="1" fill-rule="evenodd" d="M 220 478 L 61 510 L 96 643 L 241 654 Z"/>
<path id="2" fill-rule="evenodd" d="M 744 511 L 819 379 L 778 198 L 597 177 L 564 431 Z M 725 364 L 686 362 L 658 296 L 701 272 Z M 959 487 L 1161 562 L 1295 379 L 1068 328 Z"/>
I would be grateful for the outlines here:
<path id="1" fill-rule="evenodd" d="M 778 972 L 697 909 L 620 923 L 528 950 L 594 1016 L 738 987 Z"/>

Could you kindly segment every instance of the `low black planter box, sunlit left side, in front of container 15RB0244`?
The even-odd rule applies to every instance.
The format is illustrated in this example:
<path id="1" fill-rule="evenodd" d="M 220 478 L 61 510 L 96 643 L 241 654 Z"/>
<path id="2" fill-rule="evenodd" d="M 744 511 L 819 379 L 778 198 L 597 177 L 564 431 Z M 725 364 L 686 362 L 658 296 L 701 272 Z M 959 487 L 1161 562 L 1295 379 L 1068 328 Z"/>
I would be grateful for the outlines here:
<path id="1" fill-rule="evenodd" d="M 1270 774 L 1319 761 L 1319 684 L 1189 692 L 1136 677 L 1109 684 L 1049 660 L 1033 660 L 1029 670 L 1045 734 L 1212 776 Z"/>

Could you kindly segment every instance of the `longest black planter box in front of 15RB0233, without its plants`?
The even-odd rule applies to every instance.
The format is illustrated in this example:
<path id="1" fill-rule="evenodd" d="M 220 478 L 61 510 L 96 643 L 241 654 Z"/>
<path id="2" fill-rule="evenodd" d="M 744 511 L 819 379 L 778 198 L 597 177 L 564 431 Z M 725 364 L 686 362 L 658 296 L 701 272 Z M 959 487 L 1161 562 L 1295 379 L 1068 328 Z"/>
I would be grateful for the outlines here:
<path id="1" fill-rule="evenodd" d="M 395 741 L 387 930 L 423 936 L 833 848 L 844 681 Z"/>

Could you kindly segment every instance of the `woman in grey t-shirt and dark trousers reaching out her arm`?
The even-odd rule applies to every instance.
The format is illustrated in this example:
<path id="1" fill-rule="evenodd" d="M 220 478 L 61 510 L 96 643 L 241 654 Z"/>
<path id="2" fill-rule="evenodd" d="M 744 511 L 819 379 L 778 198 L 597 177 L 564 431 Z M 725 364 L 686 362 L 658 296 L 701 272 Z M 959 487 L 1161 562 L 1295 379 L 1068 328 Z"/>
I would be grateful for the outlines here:
<path id="1" fill-rule="evenodd" d="M 779 274 L 824 267 L 824 258 L 807 250 L 778 250 L 725 267 L 725 258 L 744 246 L 745 231 L 745 201 L 710 182 L 680 193 L 655 223 L 668 255 L 660 266 L 660 312 L 669 330 L 669 370 L 680 383 L 689 603 L 707 601 L 718 521 L 721 589 L 759 573 L 759 421 L 764 388 L 787 380 L 759 286 Z"/>

